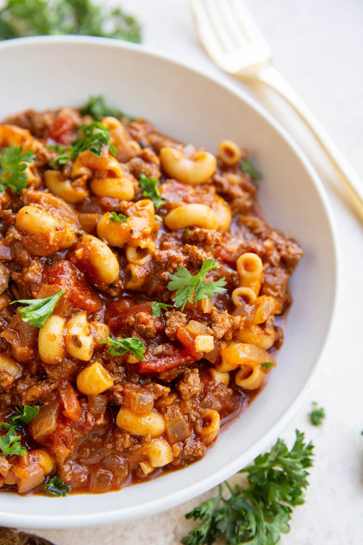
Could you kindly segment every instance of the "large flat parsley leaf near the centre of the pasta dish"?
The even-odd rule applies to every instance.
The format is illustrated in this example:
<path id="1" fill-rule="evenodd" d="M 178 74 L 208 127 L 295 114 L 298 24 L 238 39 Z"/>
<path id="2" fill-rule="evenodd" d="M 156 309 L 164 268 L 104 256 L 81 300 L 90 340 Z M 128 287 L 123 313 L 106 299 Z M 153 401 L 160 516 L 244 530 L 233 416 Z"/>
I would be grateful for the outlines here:
<path id="1" fill-rule="evenodd" d="M 227 282 L 224 277 L 219 278 L 216 282 L 204 282 L 207 272 L 218 268 L 214 259 L 206 259 L 195 276 L 192 276 L 185 267 L 178 267 L 175 274 L 169 274 L 168 289 L 170 292 L 176 290 L 174 299 L 172 299 L 174 306 L 180 307 L 180 310 L 183 311 L 187 301 L 195 304 L 202 299 L 211 298 L 215 293 L 225 292 L 226 289 L 223 286 Z"/>

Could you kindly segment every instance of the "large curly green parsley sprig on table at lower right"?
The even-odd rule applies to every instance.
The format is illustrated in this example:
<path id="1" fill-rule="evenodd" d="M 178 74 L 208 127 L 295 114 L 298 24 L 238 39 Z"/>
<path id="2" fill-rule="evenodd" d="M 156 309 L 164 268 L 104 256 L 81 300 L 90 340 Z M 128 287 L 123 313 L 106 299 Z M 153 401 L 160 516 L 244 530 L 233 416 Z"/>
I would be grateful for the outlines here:
<path id="1" fill-rule="evenodd" d="M 298 430 L 290 451 L 278 439 L 270 452 L 257 456 L 253 465 L 241 470 L 247 473 L 247 489 L 232 487 L 226 481 L 219 486 L 217 496 L 186 514 L 186 518 L 200 519 L 201 524 L 183 537 L 182 543 L 212 545 L 222 535 L 226 545 L 279 543 L 280 535 L 290 531 L 292 507 L 304 503 L 312 450 L 313 445 L 306 445 L 304 434 Z"/>

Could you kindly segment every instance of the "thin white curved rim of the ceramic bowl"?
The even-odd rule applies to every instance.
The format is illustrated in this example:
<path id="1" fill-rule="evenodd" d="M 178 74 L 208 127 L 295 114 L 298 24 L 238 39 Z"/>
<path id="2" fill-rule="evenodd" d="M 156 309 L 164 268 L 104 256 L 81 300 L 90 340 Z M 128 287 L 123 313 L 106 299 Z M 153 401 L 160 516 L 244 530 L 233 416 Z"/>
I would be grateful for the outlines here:
<path id="1" fill-rule="evenodd" d="M 222 76 L 211 74 L 206 69 L 200 69 L 199 66 L 196 66 L 193 63 L 184 62 L 179 58 L 174 57 L 168 53 L 162 51 L 157 51 L 152 47 L 145 46 L 142 44 L 133 44 L 130 42 L 115 40 L 110 38 L 99 38 L 99 37 L 90 37 L 90 36 L 77 36 L 77 35 L 53 35 L 53 36 L 39 36 L 39 37 L 24 37 L 24 38 L 15 38 L 0 43 L 0 52 L 2 50 L 17 49 L 18 47 L 27 47 L 27 45 L 33 44 L 43 44 L 48 43 L 52 44 L 72 44 L 77 46 L 77 44 L 89 44 L 97 45 L 99 47 L 113 47 L 115 49 L 131 50 L 138 51 L 144 54 L 145 57 L 153 57 L 161 60 L 165 60 L 176 66 L 188 69 L 189 71 L 194 72 L 195 74 L 203 76 L 206 80 L 213 83 L 217 83 L 218 86 L 224 88 L 230 93 L 237 96 L 239 100 L 242 100 L 250 108 L 255 110 L 266 122 L 272 126 L 272 128 L 279 133 L 279 135 L 285 140 L 290 147 L 292 153 L 294 153 L 298 160 L 302 163 L 307 174 L 310 176 L 313 184 L 316 187 L 316 190 L 319 194 L 319 197 L 322 201 L 323 208 L 327 215 L 328 225 L 331 232 L 331 238 L 333 241 L 333 253 L 334 253 L 334 270 L 332 274 L 334 275 L 334 294 L 333 294 L 333 310 L 331 311 L 330 322 L 328 326 L 327 335 L 323 343 L 323 347 L 318 356 L 318 359 L 313 367 L 309 378 L 307 379 L 305 385 L 300 391 L 299 395 L 296 397 L 294 402 L 286 410 L 286 412 L 280 417 L 278 421 L 274 424 L 272 428 L 269 429 L 268 433 L 264 434 L 259 441 L 257 441 L 253 446 L 251 446 L 247 451 L 244 451 L 240 456 L 238 456 L 233 462 L 226 465 L 226 467 L 218 470 L 213 475 L 206 477 L 202 481 L 193 483 L 192 485 L 186 486 L 182 490 L 172 492 L 168 495 L 163 495 L 155 500 L 148 501 L 143 503 L 142 498 L 140 497 L 140 504 L 134 507 L 120 507 L 115 508 L 113 511 L 108 511 L 104 513 L 92 513 L 92 514 L 72 514 L 68 513 L 67 515 L 61 516 L 41 516 L 34 514 L 19 514 L 19 513 L 3 513 L 0 512 L 0 524 L 15 527 L 15 528 L 33 528 L 33 529 L 71 529 L 71 528 L 81 528 L 83 526 L 97 526 L 104 524 L 115 524 L 123 520 L 130 520 L 133 518 L 138 518 L 141 516 L 149 516 L 161 511 L 165 511 L 171 507 L 182 504 L 183 502 L 195 498 L 199 494 L 207 492 L 214 486 L 217 486 L 219 483 L 228 479 L 233 474 L 237 473 L 241 469 L 242 465 L 239 460 L 247 458 L 250 461 L 253 460 L 257 455 L 259 455 L 264 449 L 273 443 L 273 441 L 279 436 L 279 434 L 287 427 L 287 425 L 292 421 L 293 417 L 296 416 L 299 409 L 302 408 L 302 405 L 305 403 L 307 397 L 310 395 L 312 386 L 315 383 L 318 374 L 321 372 L 321 369 L 324 364 L 325 355 L 329 347 L 330 338 L 334 331 L 334 326 L 336 324 L 337 318 L 337 306 L 341 296 L 341 253 L 340 246 L 338 243 L 338 231 L 336 226 L 336 220 L 331 208 L 331 204 L 328 199 L 328 195 L 325 192 L 324 186 L 321 179 L 315 171 L 315 168 L 311 165 L 310 161 L 307 159 L 305 153 L 300 149 L 298 144 L 294 141 L 293 137 L 288 134 L 280 123 L 264 109 L 255 99 L 251 98 L 243 89 L 237 87 L 234 83 L 224 80 Z M 100 496 L 99 494 L 94 494 Z M 78 496 L 82 496 L 79 494 Z M 31 497 L 31 496 L 30 496 Z M 27 496 L 25 496 L 24 501 L 27 501 Z"/>

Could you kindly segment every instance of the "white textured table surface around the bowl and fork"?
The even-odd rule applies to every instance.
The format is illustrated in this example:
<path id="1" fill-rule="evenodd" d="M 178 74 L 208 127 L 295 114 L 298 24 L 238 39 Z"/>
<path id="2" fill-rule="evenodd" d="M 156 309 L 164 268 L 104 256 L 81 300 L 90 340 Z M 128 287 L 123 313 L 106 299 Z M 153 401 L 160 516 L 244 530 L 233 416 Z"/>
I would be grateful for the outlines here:
<path id="1" fill-rule="evenodd" d="M 361 0 L 249 0 L 248 4 L 272 46 L 274 64 L 363 174 Z M 211 73 L 219 72 L 199 44 L 187 0 L 122 0 L 122 5 L 143 22 L 145 44 Z M 251 89 L 242 83 L 241 87 L 275 114 L 313 162 L 334 208 L 342 250 L 339 317 L 325 367 L 310 401 L 282 434 L 291 442 L 295 428 L 305 431 L 306 438 L 315 444 L 316 460 L 306 503 L 294 511 L 291 532 L 282 537 L 281 543 L 360 545 L 363 543 L 362 224 L 344 204 L 340 180 L 296 116 L 272 92 Z M 318 319 L 318 301 L 312 319 Z M 327 414 L 321 428 L 311 426 L 307 420 L 312 400 L 322 404 Z M 211 493 L 204 496 L 208 495 Z M 141 542 L 174 545 L 193 525 L 184 520 L 184 513 L 202 497 L 129 523 L 36 533 L 56 545 Z"/>

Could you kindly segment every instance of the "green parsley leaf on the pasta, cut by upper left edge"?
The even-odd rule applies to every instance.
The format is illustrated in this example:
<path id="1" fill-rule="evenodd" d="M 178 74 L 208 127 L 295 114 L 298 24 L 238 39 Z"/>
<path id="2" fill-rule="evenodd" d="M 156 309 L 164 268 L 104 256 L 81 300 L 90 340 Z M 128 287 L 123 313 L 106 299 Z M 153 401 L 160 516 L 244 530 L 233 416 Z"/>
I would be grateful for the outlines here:
<path id="1" fill-rule="evenodd" d="M 0 191 L 4 191 L 5 186 L 10 187 L 16 193 L 21 193 L 27 186 L 27 174 L 24 170 L 27 163 L 34 161 L 34 153 L 31 149 L 23 152 L 24 146 L 13 146 L 4 148 L 0 154 Z"/>

